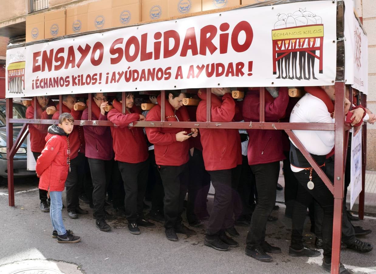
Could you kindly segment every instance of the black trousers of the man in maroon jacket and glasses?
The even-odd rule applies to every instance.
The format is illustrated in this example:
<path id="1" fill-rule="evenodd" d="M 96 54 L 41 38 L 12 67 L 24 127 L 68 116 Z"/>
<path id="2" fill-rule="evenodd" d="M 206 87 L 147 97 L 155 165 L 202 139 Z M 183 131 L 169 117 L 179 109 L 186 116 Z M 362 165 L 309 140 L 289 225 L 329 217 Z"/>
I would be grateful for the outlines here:
<path id="1" fill-rule="evenodd" d="M 105 219 L 106 189 L 111 180 L 114 160 L 101 160 L 88 158 L 92 178 L 92 202 L 94 204 L 93 216 L 97 219 Z"/>

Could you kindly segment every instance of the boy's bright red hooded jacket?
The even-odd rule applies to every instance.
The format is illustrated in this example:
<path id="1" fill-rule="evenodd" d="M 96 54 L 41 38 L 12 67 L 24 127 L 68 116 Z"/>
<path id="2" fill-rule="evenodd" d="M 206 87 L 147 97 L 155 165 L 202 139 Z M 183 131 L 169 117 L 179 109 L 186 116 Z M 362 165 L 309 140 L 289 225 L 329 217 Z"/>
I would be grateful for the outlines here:
<path id="1" fill-rule="evenodd" d="M 47 142 L 36 160 L 35 171 L 39 179 L 39 188 L 50 191 L 63 191 L 68 176 L 69 165 L 67 134 L 56 126 L 48 129 Z"/>

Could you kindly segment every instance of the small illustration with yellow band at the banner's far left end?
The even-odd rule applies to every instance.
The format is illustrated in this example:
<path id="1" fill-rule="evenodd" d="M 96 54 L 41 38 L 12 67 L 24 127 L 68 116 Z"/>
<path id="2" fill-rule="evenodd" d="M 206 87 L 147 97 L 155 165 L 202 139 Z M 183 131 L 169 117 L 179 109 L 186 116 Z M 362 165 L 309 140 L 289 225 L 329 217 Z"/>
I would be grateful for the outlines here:
<path id="1" fill-rule="evenodd" d="M 23 94 L 25 90 L 25 56 L 20 52 L 11 54 L 7 70 L 9 93 Z"/>

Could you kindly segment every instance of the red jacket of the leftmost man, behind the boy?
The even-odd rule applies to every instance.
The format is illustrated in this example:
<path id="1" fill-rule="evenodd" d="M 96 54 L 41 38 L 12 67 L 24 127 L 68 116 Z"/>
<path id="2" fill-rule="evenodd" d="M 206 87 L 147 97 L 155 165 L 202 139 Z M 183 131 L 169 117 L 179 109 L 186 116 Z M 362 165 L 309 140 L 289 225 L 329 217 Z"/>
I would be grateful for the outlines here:
<path id="1" fill-rule="evenodd" d="M 52 100 L 49 101 L 47 107 L 55 106 Z M 36 118 L 35 119 L 51 119 L 52 115 L 48 115 L 47 112 L 42 110 L 39 103 L 36 106 Z M 34 119 L 34 100 L 31 101 L 31 106 L 27 107 L 26 118 Z M 47 124 L 29 124 L 30 132 L 30 148 L 32 152 L 41 152 L 46 144 L 45 137 L 47 136 Z"/>

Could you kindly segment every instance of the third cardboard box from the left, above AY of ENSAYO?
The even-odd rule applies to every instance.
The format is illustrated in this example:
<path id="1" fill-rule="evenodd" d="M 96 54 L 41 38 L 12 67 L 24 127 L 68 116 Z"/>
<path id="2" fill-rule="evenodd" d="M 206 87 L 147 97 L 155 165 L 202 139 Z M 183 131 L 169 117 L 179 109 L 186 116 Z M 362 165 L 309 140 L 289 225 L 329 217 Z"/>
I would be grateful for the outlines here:
<path id="1" fill-rule="evenodd" d="M 74 34 L 88 31 L 88 8 L 89 5 L 81 5 L 66 10 L 66 27 L 67 34 Z"/>

